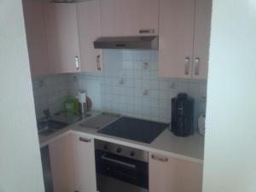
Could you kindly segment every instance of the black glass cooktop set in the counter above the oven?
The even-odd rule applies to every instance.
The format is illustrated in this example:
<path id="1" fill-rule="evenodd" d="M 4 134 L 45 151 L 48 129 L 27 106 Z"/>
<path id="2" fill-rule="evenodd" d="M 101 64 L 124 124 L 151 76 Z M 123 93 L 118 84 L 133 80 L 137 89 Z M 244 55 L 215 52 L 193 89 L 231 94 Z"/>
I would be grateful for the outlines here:
<path id="1" fill-rule="evenodd" d="M 122 117 L 98 132 L 137 142 L 151 143 L 167 126 L 168 124 L 154 121 Z"/>

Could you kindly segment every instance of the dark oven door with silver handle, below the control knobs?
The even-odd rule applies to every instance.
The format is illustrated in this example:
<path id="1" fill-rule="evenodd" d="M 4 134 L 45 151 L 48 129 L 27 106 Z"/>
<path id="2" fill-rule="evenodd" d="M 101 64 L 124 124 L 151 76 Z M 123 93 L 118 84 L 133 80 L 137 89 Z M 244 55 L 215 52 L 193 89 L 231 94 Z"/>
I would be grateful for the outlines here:
<path id="1" fill-rule="evenodd" d="M 102 183 L 112 183 L 111 185 L 115 187 L 120 185 L 119 191 L 124 191 L 124 184 L 130 183 L 144 189 L 133 191 L 148 191 L 148 163 L 146 162 L 96 150 L 96 173 L 99 179 L 98 186 L 102 186 Z M 106 183 L 106 179 L 109 183 Z M 119 184 L 114 184 L 114 181 Z M 104 192 L 104 189 L 100 191 Z"/>

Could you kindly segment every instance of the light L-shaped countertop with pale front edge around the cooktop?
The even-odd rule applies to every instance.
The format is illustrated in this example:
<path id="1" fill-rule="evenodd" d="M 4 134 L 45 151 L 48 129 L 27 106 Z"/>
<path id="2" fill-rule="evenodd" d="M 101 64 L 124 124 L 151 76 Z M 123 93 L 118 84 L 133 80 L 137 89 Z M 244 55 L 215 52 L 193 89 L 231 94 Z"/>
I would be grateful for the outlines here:
<path id="1" fill-rule="evenodd" d="M 98 113 L 99 112 L 92 112 L 91 118 L 93 118 L 93 116 Z M 160 134 L 159 137 L 156 137 L 152 143 L 148 144 L 98 133 L 97 129 L 80 126 L 81 123 L 82 120 L 74 123 L 73 125 L 69 125 L 65 129 L 57 131 L 48 137 L 40 136 L 40 147 L 43 148 L 49 143 L 54 142 L 55 139 L 73 133 L 81 137 L 91 137 L 100 139 L 102 141 L 129 146 L 132 148 L 143 149 L 150 153 L 166 155 L 181 160 L 188 160 L 191 162 L 203 164 L 204 137 L 197 133 L 190 137 L 176 137 L 172 134 L 171 131 L 166 129 Z"/>

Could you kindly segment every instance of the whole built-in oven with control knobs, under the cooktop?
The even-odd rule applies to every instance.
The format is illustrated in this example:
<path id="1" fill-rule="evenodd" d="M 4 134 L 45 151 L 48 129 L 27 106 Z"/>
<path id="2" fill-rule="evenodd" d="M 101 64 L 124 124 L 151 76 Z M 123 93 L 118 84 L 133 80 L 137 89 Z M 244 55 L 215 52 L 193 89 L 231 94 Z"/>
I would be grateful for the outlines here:
<path id="1" fill-rule="evenodd" d="M 96 179 L 100 192 L 148 192 L 148 152 L 96 140 Z"/>

